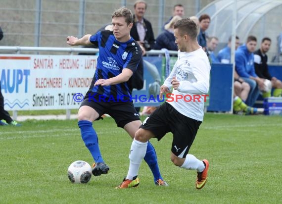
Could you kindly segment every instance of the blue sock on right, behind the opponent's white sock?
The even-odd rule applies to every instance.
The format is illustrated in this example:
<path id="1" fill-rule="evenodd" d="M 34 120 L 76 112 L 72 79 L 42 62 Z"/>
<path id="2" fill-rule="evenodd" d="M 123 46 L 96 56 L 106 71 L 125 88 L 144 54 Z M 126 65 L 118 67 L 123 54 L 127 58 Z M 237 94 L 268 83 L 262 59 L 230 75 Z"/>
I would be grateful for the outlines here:
<path id="1" fill-rule="evenodd" d="M 156 151 L 150 142 L 148 142 L 147 151 L 146 151 L 144 160 L 149 165 L 154 175 L 154 181 L 156 182 L 159 179 L 163 180 L 161 173 L 160 173 L 159 165 L 158 165 Z"/>

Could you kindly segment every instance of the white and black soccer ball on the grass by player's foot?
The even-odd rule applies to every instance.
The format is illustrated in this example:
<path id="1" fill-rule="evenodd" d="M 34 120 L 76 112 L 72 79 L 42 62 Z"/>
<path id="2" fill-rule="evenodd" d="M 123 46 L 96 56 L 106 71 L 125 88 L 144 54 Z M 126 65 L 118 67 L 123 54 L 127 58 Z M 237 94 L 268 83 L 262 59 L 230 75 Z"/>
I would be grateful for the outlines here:
<path id="1" fill-rule="evenodd" d="M 74 161 L 68 168 L 68 177 L 72 183 L 87 183 L 91 179 L 92 168 L 86 161 Z"/>

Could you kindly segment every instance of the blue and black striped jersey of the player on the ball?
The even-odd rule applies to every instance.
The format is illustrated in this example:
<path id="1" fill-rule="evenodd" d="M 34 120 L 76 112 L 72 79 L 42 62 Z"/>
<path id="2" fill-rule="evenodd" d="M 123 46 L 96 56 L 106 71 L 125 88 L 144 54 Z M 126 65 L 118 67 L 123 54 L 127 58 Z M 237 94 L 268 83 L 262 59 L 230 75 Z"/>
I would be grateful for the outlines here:
<path id="1" fill-rule="evenodd" d="M 98 79 L 109 79 L 119 75 L 123 68 L 128 68 L 134 73 L 142 56 L 139 44 L 133 38 L 125 43 L 118 42 L 113 32 L 107 30 L 92 35 L 90 41 L 99 47 L 99 56 L 89 90 L 97 95 L 114 99 L 131 96 L 130 81 L 111 86 L 94 86 L 94 83 Z"/>

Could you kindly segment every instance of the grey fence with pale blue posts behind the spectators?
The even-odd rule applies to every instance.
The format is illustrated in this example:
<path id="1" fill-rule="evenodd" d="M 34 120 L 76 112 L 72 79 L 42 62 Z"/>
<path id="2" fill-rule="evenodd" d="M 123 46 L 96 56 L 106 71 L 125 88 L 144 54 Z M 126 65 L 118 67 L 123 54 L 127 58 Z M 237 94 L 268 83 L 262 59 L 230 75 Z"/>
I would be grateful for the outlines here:
<path id="1" fill-rule="evenodd" d="M 185 17 L 195 15 L 213 0 L 147 0 L 145 18 L 153 26 L 155 38 L 172 15 L 174 4 L 185 7 Z M 67 47 L 69 35 L 93 34 L 111 22 L 111 14 L 121 6 L 134 11 L 135 0 L 1 0 L 0 26 L 4 38 L 0 46 Z"/>

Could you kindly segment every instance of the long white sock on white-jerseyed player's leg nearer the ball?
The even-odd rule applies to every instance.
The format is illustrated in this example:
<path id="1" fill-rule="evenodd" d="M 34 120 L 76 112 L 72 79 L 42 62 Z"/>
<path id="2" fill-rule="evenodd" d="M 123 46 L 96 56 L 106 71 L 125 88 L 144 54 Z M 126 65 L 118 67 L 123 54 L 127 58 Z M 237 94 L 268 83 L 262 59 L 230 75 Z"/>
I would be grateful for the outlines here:
<path id="1" fill-rule="evenodd" d="M 138 175 L 139 167 L 142 159 L 144 158 L 147 150 L 148 142 L 142 143 L 133 140 L 129 153 L 129 169 L 126 178 L 133 180 L 134 176 Z"/>

